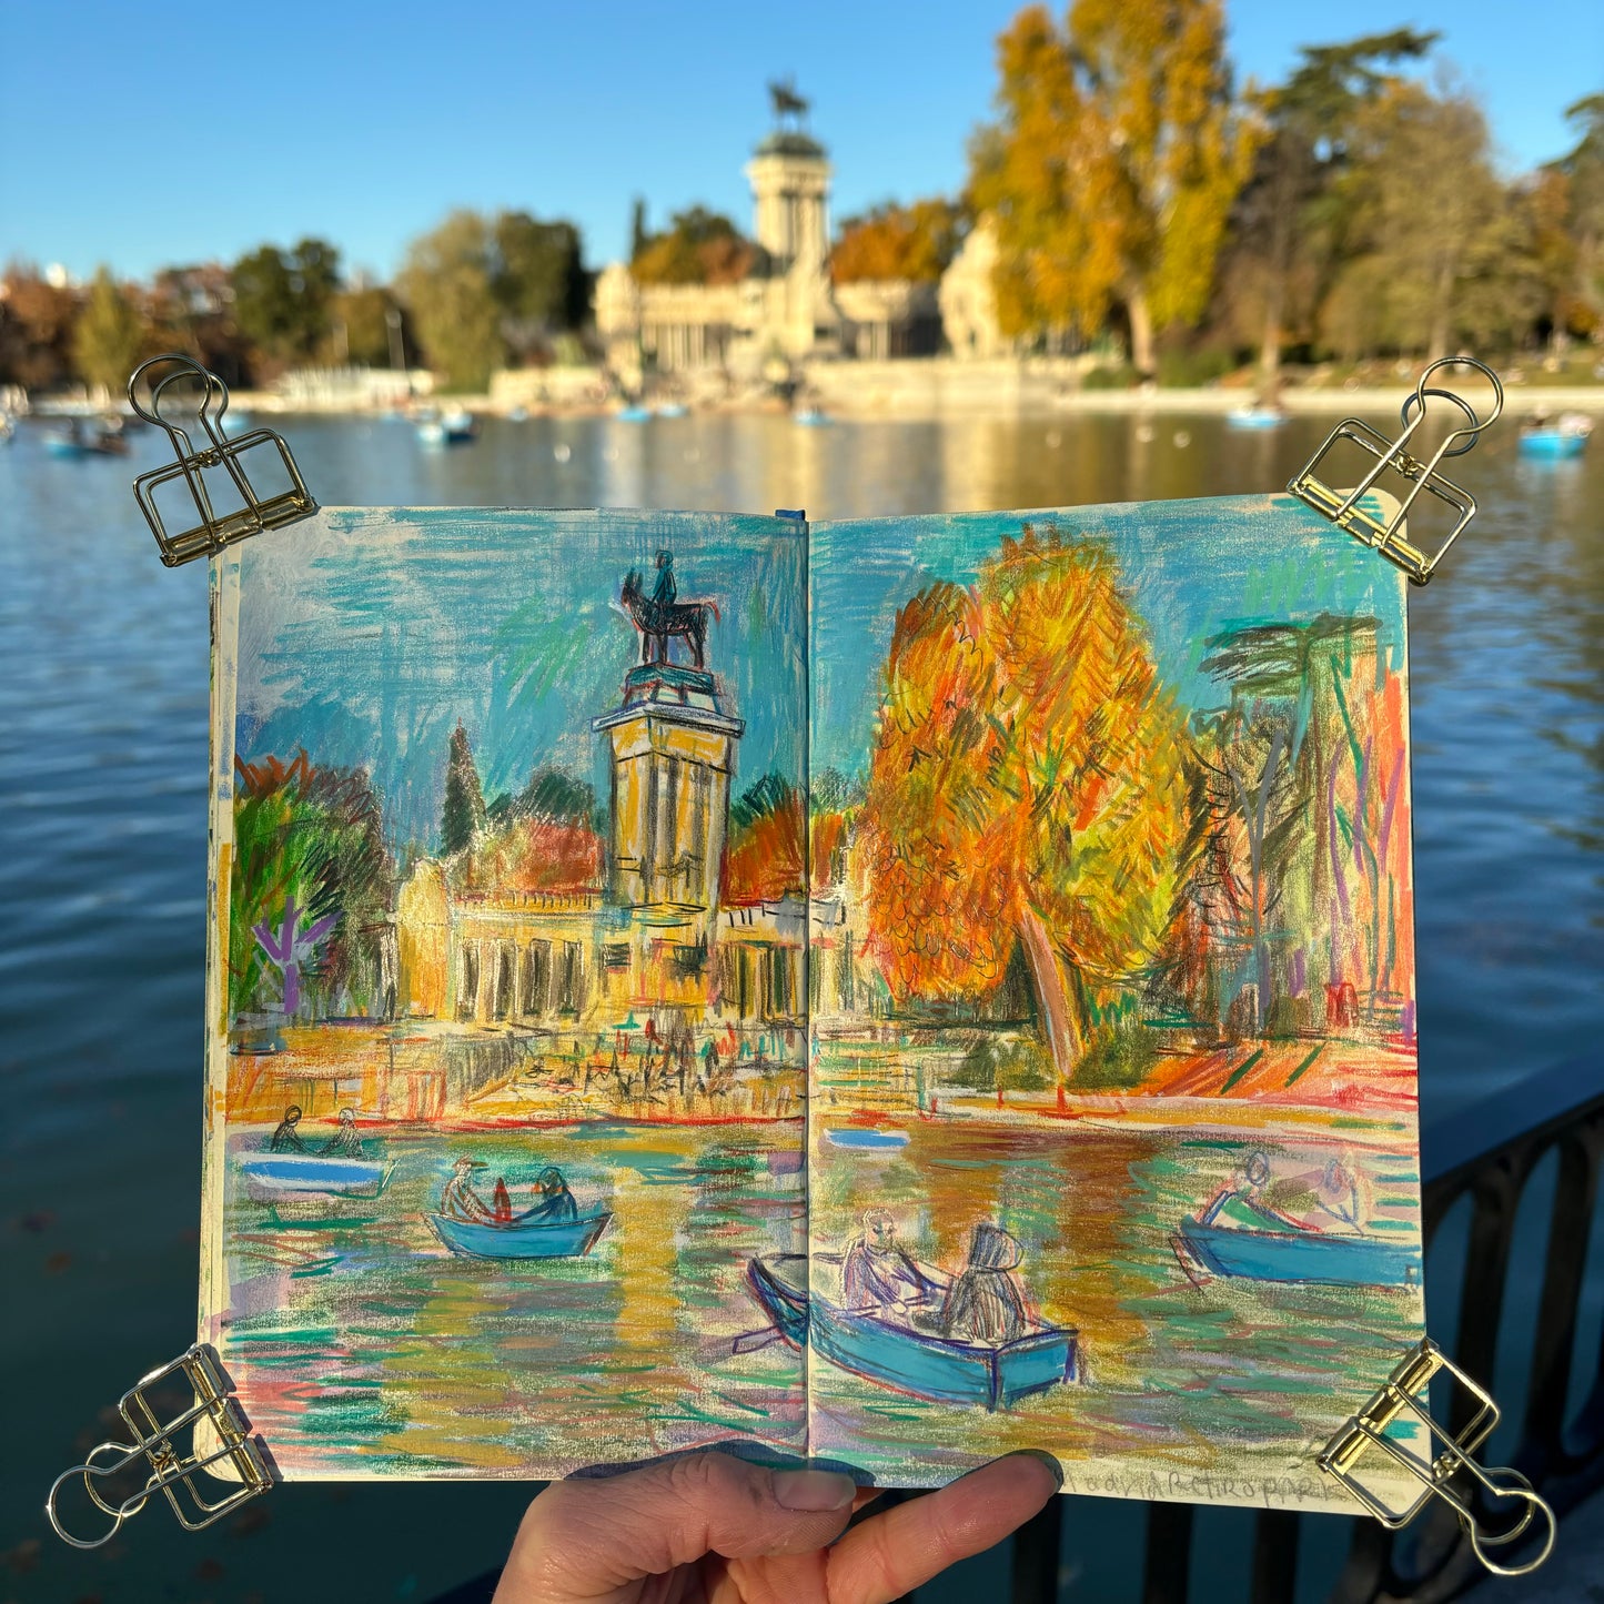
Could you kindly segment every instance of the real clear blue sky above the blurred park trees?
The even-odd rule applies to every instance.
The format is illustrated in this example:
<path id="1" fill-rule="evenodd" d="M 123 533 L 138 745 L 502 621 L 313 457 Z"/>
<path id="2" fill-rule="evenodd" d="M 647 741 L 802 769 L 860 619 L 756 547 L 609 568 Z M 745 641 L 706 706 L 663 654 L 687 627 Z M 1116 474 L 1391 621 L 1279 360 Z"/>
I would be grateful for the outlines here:
<path id="1" fill-rule="evenodd" d="M 593 265 L 630 199 L 749 218 L 741 176 L 794 75 L 836 164 L 837 217 L 951 192 L 990 112 L 1017 0 L 919 5 L 14 0 L 0 29 L 0 261 L 146 274 L 321 234 L 388 276 L 454 205 L 574 218 Z M 1062 10 L 1062 8 L 1059 8 Z M 1482 95 L 1508 170 L 1569 146 L 1562 109 L 1604 88 L 1604 5 L 1286 0 L 1227 6 L 1238 72 L 1306 42 L 1412 24 Z"/>

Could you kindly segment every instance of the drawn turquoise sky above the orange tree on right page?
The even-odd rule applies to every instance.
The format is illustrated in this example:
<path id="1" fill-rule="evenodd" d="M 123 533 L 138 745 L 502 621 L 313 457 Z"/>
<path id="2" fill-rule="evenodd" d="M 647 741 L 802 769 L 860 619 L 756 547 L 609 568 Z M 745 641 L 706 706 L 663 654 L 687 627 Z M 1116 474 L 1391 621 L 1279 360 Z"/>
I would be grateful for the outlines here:
<path id="1" fill-rule="evenodd" d="M 969 584 L 1025 523 L 1105 539 L 1148 629 L 1161 680 L 1189 707 L 1224 703 L 1201 670 L 1233 626 L 1320 613 L 1373 616 L 1402 666 L 1405 590 L 1391 563 L 1290 496 L 1128 502 L 1014 513 L 937 513 L 815 525 L 812 765 L 863 770 L 897 610 L 926 585 Z"/>

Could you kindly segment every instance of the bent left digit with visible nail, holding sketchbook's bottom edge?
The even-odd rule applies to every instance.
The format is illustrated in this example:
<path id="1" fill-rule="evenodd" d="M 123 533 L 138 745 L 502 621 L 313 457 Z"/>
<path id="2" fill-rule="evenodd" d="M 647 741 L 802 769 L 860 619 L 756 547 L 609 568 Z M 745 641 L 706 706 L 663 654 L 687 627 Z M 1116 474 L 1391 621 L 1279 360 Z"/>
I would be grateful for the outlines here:
<path id="1" fill-rule="evenodd" d="M 600 1604 L 704 1554 L 807 1554 L 852 1517 L 850 1476 L 690 1453 L 553 1482 L 529 1505 L 494 1604 Z"/>

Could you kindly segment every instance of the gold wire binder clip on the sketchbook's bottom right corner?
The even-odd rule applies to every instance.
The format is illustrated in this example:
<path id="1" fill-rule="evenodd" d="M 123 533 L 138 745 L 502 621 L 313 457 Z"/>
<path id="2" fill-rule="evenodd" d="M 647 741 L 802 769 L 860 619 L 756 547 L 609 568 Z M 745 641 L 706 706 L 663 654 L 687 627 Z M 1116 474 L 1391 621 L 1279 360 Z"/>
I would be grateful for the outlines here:
<path id="1" fill-rule="evenodd" d="M 1426 1389 L 1439 1371 L 1452 1376 L 1476 1404 L 1476 1413 L 1458 1432 L 1444 1431 L 1431 1418 Z M 1408 1445 L 1415 1436 L 1413 1426 L 1416 1423 L 1426 1429 L 1424 1452 Z M 1400 1426 L 1405 1428 L 1402 1432 Z M 1554 1511 L 1519 1471 L 1485 1469 L 1471 1458 L 1497 1426 L 1498 1405 L 1492 1394 L 1477 1386 L 1428 1338 L 1410 1352 L 1387 1376 L 1375 1397 L 1325 1445 L 1315 1463 L 1328 1476 L 1335 1476 L 1384 1527 L 1394 1532 L 1408 1525 L 1432 1498 L 1440 1498 L 1458 1516 L 1476 1557 L 1493 1575 L 1524 1577 L 1529 1570 L 1537 1570 L 1554 1548 Z M 1437 1444 L 1442 1444 L 1440 1453 Z M 1371 1450 L 1387 1455 L 1423 1484 L 1420 1495 L 1402 1509 L 1394 1508 L 1359 1480 L 1355 1466 Z M 1463 1493 L 1453 1487 L 1461 1472 L 1469 1476 L 1472 1484 L 1480 1484 L 1482 1490 L 1493 1498 L 1514 1498 L 1524 1505 L 1521 1519 L 1506 1532 L 1493 1533 L 1482 1527 L 1472 1508 L 1474 1485 Z M 1537 1516 L 1543 1517 L 1548 1530 L 1530 1559 L 1517 1566 L 1505 1566 L 1487 1556 L 1489 1548 L 1501 1548 L 1525 1535 Z"/>

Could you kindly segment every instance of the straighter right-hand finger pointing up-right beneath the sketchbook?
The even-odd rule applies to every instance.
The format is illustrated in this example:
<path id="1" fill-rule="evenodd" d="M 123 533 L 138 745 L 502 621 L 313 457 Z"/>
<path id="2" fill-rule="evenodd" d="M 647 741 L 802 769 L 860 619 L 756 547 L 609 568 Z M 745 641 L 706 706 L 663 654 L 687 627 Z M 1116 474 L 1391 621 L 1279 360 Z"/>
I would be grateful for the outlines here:
<path id="1" fill-rule="evenodd" d="M 853 1527 L 831 1551 L 831 1604 L 887 1604 L 1001 1543 L 1062 1485 L 1046 1456 L 1011 1453 Z"/>

